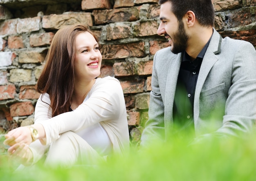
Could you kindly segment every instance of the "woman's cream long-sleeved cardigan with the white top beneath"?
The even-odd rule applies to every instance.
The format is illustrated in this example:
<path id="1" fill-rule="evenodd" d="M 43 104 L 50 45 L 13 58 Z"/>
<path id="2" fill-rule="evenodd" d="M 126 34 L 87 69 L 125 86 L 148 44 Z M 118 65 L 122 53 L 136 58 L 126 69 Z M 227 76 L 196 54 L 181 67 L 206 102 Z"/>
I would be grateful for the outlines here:
<path id="1" fill-rule="evenodd" d="M 120 82 L 114 77 L 97 78 L 88 99 L 75 110 L 52 117 L 48 94 L 40 95 L 35 109 L 35 124 L 42 124 L 46 139 L 31 143 L 34 163 L 60 134 L 76 132 L 99 153 L 124 153 L 129 148 L 129 131 L 124 94 Z"/>

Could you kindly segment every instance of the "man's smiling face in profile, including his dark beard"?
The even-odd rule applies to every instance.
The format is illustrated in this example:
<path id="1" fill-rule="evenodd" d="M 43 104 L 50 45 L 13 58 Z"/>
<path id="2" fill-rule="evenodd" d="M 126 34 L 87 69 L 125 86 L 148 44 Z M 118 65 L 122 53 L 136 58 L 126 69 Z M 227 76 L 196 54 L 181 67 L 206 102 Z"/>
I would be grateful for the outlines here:
<path id="1" fill-rule="evenodd" d="M 159 18 L 161 20 L 157 34 L 164 35 L 171 45 L 173 53 L 180 53 L 186 50 L 189 36 L 184 29 L 182 21 L 178 21 L 171 12 L 171 2 L 165 2 L 161 5 Z"/>

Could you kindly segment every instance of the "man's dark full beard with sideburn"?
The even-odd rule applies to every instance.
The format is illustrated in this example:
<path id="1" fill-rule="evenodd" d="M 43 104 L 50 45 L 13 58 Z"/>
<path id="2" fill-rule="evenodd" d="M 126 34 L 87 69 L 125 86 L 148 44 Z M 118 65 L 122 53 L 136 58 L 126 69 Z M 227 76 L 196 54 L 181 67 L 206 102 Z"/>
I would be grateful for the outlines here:
<path id="1" fill-rule="evenodd" d="M 184 24 L 182 21 L 179 21 L 179 27 L 177 32 L 172 36 L 173 39 L 173 48 L 171 51 L 175 54 L 184 52 L 187 47 L 189 35 L 186 34 L 184 29 Z"/>

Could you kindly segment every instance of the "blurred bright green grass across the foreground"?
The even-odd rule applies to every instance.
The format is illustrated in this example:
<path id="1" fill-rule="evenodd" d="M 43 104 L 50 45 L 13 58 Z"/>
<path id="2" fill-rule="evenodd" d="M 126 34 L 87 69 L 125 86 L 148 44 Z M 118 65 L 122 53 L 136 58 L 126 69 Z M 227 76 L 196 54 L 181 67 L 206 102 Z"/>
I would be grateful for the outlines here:
<path id="1" fill-rule="evenodd" d="M 8 157 L 0 156 L 0 181 L 255 181 L 255 138 L 209 139 L 190 147 L 184 139 L 174 140 L 140 151 L 132 146 L 126 157 L 96 167 L 13 172 Z"/>

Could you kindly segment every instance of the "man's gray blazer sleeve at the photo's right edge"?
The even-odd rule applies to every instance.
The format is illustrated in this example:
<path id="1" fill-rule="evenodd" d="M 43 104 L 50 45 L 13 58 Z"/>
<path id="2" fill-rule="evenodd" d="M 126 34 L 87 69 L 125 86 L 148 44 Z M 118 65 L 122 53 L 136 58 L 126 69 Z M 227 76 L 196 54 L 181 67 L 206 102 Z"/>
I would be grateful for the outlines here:
<path id="1" fill-rule="evenodd" d="M 217 132 L 238 136 L 252 130 L 256 120 L 256 51 L 249 42 L 238 45 L 231 81 L 223 126 Z"/>

